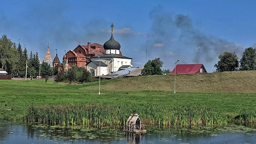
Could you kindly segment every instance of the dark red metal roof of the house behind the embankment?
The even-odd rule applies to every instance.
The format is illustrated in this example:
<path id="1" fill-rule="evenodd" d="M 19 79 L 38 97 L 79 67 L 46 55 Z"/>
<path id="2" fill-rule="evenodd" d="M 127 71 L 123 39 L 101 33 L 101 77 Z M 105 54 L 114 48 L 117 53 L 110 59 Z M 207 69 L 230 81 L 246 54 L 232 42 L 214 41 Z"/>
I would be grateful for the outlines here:
<path id="1" fill-rule="evenodd" d="M 177 64 L 176 65 L 176 74 L 195 74 L 198 73 L 203 64 Z M 204 66 L 203 66 L 204 68 Z M 204 68 L 206 71 L 206 69 Z M 175 68 L 170 74 L 175 73 Z"/>

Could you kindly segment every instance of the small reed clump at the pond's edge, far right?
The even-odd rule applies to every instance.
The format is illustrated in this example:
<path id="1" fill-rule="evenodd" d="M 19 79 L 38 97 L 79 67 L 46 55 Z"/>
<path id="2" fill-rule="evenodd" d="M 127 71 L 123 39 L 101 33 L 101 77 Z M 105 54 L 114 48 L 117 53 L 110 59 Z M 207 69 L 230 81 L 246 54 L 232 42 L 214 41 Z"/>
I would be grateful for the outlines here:
<path id="1" fill-rule="evenodd" d="M 239 116 L 235 118 L 238 122 L 249 122 L 255 123 L 256 122 L 256 108 L 246 107 L 240 110 Z"/>

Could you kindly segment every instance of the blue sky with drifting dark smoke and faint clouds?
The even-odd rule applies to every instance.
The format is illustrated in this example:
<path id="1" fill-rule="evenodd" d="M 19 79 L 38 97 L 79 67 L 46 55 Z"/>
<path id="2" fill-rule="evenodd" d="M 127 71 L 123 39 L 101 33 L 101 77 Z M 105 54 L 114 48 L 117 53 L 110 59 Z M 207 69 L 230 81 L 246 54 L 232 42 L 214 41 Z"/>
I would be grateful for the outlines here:
<path id="1" fill-rule="evenodd" d="M 104 44 L 111 37 L 134 67 L 160 57 L 165 69 L 178 64 L 204 64 L 215 70 L 225 51 L 242 57 L 255 46 L 256 1 L 171 0 L 4 0 L 0 5 L 0 35 L 6 34 L 41 60 L 49 43 L 62 61 L 64 50 L 87 42 Z"/>

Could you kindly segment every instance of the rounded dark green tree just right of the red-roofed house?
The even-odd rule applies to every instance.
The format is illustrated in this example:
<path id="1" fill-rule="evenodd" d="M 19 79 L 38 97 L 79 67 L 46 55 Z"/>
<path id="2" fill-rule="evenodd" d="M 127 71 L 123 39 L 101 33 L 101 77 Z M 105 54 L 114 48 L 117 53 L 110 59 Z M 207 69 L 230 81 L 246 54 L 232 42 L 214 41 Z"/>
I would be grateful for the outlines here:
<path id="1" fill-rule="evenodd" d="M 238 70 L 238 56 L 233 52 L 224 52 L 219 55 L 219 61 L 214 65 L 217 72 Z"/>

